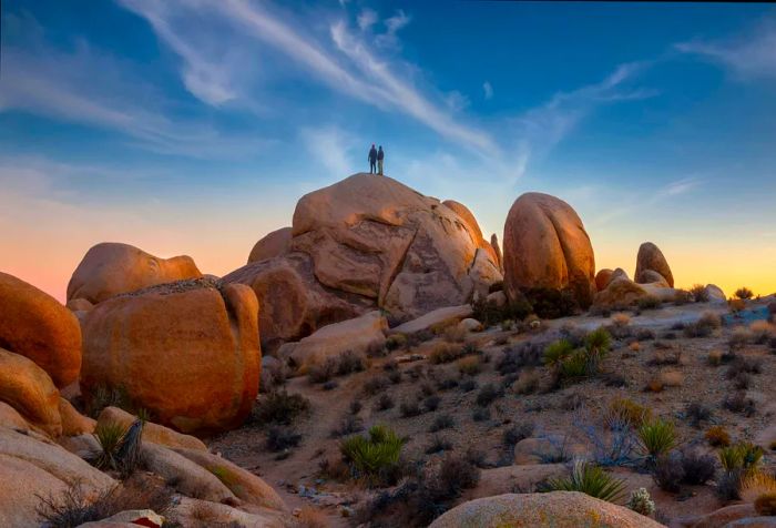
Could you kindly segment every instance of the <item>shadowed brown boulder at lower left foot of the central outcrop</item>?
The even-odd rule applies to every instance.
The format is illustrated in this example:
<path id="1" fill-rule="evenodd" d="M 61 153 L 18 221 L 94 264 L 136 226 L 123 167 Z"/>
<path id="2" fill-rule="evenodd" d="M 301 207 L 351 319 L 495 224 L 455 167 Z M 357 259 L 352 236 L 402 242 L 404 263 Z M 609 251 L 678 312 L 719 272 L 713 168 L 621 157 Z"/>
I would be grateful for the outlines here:
<path id="1" fill-rule="evenodd" d="M 338 296 L 324 288 L 313 274 L 310 257 L 303 253 L 253 262 L 224 276 L 222 282 L 253 288 L 262 306 L 259 335 L 267 353 L 321 326 L 357 317 L 374 308 L 369 299 Z"/>

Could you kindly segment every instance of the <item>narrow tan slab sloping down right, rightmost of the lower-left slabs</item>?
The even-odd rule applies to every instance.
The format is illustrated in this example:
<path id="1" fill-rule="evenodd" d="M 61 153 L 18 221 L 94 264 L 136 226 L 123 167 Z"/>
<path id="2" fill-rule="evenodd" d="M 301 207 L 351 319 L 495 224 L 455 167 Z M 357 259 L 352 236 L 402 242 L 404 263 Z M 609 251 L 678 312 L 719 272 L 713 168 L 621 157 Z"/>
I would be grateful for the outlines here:
<path id="1" fill-rule="evenodd" d="M 286 505 L 272 486 L 236 464 L 212 453 L 175 449 L 175 453 L 212 473 L 241 500 L 254 506 L 285 510 Z"/>

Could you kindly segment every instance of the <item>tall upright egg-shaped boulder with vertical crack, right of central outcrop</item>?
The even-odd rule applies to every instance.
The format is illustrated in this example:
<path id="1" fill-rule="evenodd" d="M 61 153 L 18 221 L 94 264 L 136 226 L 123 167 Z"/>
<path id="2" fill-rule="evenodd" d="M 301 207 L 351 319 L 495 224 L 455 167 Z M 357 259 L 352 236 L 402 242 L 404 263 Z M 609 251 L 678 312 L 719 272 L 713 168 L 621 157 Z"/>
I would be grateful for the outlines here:
<path id="1" fill-rule="evenodd" d="M 595 293 L 593 247 L 569 204 L 548 194 L 523 194 L 509 210 L 503 244 L 510 301 L 521 298 L 521 291 L 570 288 L 580 306 L 590 306 Z"/>

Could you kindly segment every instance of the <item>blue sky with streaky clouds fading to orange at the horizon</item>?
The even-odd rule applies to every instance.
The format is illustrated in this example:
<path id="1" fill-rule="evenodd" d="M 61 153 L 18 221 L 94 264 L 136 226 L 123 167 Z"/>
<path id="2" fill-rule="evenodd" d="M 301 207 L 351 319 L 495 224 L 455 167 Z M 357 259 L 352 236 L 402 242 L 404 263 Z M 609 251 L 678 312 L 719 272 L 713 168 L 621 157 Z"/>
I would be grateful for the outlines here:
<path id="1" fill-rule="evenodd" d="M 223 275 L 368 171 L 570 203 L 596 266 L 776 292 L 776 8 L 368 0 L 2 2 L 0 271 L 64 299 L 92 245 Z"/>

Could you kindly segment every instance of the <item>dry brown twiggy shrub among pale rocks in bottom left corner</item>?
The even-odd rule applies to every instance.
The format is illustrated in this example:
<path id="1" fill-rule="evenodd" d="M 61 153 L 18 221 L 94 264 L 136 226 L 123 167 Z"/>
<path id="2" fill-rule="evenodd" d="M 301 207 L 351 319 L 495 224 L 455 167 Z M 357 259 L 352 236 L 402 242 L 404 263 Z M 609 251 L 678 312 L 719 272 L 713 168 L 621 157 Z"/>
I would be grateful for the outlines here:
<path id="1" fill-rule="evenodd" d="M 94 497 L 73 483 L 60 495 L 37 496 L 39 518 L 50 528 L 74 528 L 98 521 L 121 511 L 152 509 L 164 516 L 173 507 L 173 493 L 144 478 L 131 478 Z"/>

